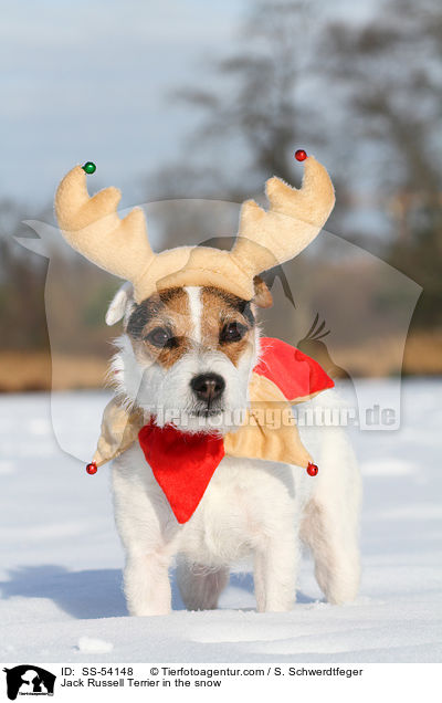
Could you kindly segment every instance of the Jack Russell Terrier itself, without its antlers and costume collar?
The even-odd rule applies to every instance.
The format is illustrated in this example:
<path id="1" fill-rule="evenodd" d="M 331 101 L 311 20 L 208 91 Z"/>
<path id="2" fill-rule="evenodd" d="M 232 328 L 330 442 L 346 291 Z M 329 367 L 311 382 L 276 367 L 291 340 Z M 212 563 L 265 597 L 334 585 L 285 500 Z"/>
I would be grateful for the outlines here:
<path id="1" fill-rule="evenodd" d="M 158 422 L 166 422 L 164 411 L 172 409 L 183 432 L 232 431 L 238 410 L 248 406 L 260 357 L 256 311 L 253 301 L 212 286 L 172 287 L 137 304 L 133 287 L 124 285 L 106 315 L 108 324 L 124 319 L 112 364 L 119 395 L 147 412 L 161 409 Z M 308 402 L 335 407 L 336 391 Z M 257 611 L 288 611 L 302 544 L 313 554 L 317 583 L 330 604 L 356 597 L 361 484 L 354 453 L 339 427 L 299 429 L 320 465 L 314 480 L 297 466 L 224 457 L 183 525 L 138 442 L 114 461 L 114 510 L 126 550 L 130 615 L 170 612 L 175 559 L 186 607 L 217 608 L 231 565 L 249 557 Z"/>

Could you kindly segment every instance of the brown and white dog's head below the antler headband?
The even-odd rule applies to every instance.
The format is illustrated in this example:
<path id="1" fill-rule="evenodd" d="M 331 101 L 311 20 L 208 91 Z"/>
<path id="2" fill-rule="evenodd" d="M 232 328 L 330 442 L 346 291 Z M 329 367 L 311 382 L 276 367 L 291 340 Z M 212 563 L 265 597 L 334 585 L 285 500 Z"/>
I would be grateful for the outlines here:
<path id="1" fill-rule="evenodd" d="M 119 392 L 159 426 L 236 429 L 259 352 L 256 306 L 272 301 L 263 281 L 255 292 L 245 301 L 218 287 L 171 287 L 137 304 L 124 285 L 106 315 L 107 324 L 124 318 L 112 367 Z"/>

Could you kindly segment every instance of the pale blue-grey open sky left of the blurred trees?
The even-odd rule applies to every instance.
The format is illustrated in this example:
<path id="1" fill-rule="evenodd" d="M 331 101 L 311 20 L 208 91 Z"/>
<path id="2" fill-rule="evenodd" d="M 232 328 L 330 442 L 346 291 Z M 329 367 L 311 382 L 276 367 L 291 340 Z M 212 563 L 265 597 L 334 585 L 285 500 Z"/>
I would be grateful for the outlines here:
<path id="1" fill-rule="evenodd" d="M 333 13 L 375 1 L 336 0 Z M 171 91 L 213 80 L 210 61 L 236 43 L 248 4 L 0 0 L 0 200 L 35 214 L 86 160 L 99 187 L 123 189 L 123 206 L 143 199 L 146 174 L 179 153 L 196 117 Z"/>

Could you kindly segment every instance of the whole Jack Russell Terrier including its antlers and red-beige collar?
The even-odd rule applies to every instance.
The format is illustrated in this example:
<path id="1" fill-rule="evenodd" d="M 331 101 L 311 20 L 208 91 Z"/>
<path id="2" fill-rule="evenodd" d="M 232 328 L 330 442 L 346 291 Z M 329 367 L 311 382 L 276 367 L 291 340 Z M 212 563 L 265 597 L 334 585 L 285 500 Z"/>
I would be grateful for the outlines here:
<path id="1" fill-rule="evenodd" d="M 106 316 L 109 324 L 124 319 L 112 366 L 122 405 L 115 399 L 106 408 L 96 455 L 99 463 L 116 458 L 115 517 L 134 616 L 170 611 L 175 558 L 189 609 L 215 608 L 230 566 L 252 557 L 257 610 L 287 611 L 302 543 L 313 553 L 329 602 L 357 594 L 360 479 L 341 429 L 299 428 L 320 465 L 316 475 L 296 427 L 283 423 L 275 439 L 255 416 L 253 428 L 252 415 L 243 424 L 256 398 L 272 406 L 283 398 L 287 405 L 324 391 L 308 401 L 314 409 L 337 403 L 325 390 L 332 379 L 302 352 L 270 340 L 277 352 L 273 366 L 266 363 L 269 338 L 256 322 L 257 307 L 271 304 L 260 274 L 303 251 L 335 203 L 324 166 L 304 149 L 295 157 L 304 165 L 301 189 L 270 178 L 269 209 L 243 203 L 230 251 L 201 245 L 154 252 L 141 209 L 122 220 L 116 188 L 90 197 L 92 162 L 75 166 L 59 185 L 55 213 L 64 239 L 127 281 Z M 306 386 L 294 370 L 299 359 Z M 131 423 L 133 411 L 148 422 Z M 190 455 L 198 461 L 191 463 Z M 87 470 L 93 474 L 97 466 L 93 461 Z"/>

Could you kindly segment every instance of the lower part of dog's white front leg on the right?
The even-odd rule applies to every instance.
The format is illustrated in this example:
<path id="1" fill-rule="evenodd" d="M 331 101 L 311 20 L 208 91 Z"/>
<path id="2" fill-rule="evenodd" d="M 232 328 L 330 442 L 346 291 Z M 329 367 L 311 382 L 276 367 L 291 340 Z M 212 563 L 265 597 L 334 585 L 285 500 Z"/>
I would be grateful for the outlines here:
<path id="1" fill-rule="evenodd" d="M 266 541 L 254 555 L 254 585 L 259 612 L 292 610 L 296 598 L 299 549 L 295 535 Z"/>

